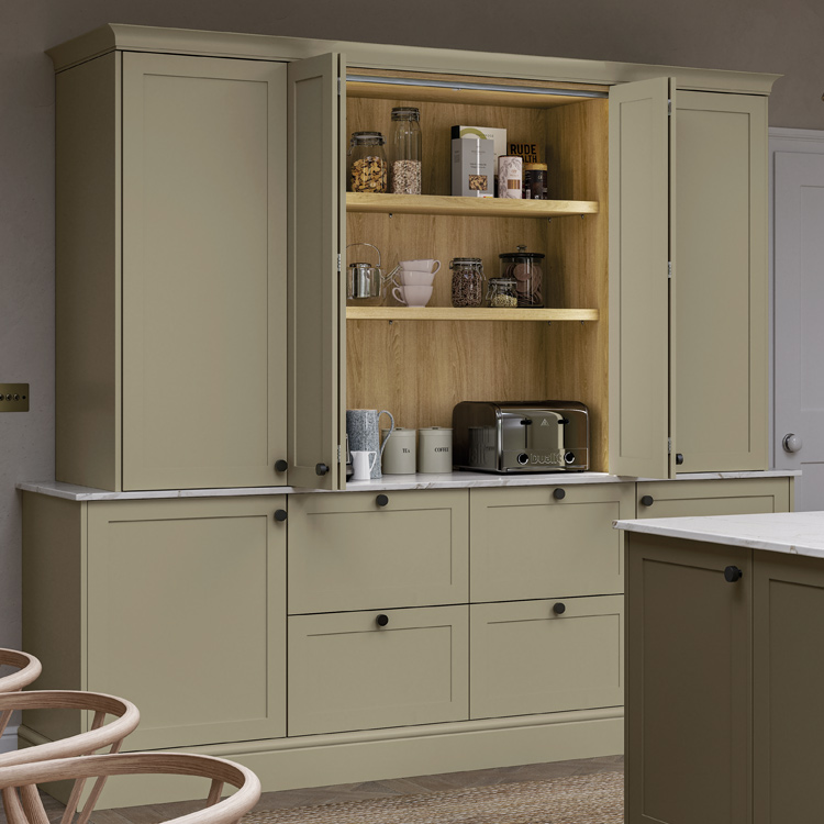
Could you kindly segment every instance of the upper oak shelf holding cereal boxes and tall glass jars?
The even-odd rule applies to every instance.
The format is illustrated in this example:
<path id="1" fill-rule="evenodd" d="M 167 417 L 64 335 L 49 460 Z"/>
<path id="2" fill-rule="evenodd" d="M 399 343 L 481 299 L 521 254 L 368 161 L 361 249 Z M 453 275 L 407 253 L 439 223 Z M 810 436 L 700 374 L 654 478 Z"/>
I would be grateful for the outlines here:
<path id="1" fill-rule="evenodd" d="M 477 218 L 560 218 L 597 214 L 592 200 L 505 200 L 442 194 L 368 194 L 346 192 L 347 212 L 372 214 L 456 214 Z"/>

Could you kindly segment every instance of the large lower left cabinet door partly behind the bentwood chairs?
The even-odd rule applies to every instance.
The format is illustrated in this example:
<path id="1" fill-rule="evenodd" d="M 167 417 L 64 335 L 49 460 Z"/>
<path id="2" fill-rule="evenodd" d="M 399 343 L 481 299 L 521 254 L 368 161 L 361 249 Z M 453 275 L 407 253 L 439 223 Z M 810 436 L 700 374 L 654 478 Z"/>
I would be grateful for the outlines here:
<path id="1" fill-rule="evenodd" d="M 129 749 L 286 734 L 285 498 L 89 504 L 88 689 Z"/>

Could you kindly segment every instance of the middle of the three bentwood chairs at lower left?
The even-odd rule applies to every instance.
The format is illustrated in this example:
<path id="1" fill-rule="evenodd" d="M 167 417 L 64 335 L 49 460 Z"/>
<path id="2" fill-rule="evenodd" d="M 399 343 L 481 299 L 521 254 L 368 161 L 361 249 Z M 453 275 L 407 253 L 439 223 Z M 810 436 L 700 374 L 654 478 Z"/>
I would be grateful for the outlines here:
<path id="1" fill-rule="evenodd" d="M 141 714 L 131 702 L 101 692 L 79 692 L 74 690 L 31 690 L 29 692 L 9 692 L 0 694 L 0 735 L 15 710 L 66 710 L 93 712 L 90 728 L 67 738 L 24 747 L 11 753 L 0 754 L 0 771 L 20 765 L 53 759 L 90 756 L 102 747 L 111 747 L 110 753 L 116 753 L 123 739 L 138 724 Z M 107 716 L 114 717 L 105 723 Z M 92 788 L 89 801 L 92 806 L 103 789 L 105 778 L 100 778 Z M 77 781 L 69 798 L 69 808 L 77 809 L 77 802 L 82 792 L 85 781 Z M 5 803 L 5 795 L 3 795 Z M 7 816 L 9 809 L 5 810 Z M 47 824 L 46 820 L 37 824 Z"/>

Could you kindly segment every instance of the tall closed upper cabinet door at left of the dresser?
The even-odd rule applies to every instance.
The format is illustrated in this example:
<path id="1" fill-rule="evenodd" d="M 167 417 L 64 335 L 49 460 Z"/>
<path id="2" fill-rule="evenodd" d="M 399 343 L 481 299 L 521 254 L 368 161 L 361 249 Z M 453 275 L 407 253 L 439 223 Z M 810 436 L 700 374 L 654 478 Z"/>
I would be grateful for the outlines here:
<path id="1" fill-rule="evenodd" d="M 286 66 L 123 55 L 123 489 L 282 483 Z"/>

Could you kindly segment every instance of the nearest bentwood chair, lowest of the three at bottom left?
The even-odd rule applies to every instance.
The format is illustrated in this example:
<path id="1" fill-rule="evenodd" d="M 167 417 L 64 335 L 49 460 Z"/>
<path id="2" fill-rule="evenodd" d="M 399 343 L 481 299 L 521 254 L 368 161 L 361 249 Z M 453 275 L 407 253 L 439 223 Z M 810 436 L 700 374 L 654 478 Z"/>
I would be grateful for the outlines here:
<path id="1" fill-rule="evenodd" d="M 89 778 L 98 782 L 112 776 L 166 775 L 198 776 L 208 779 L 208 794 L 202 810 L 167 820 L 166 824 L 234 824 L 260 798 L 260 782 L 246 767 L 212 756 L 188 753 L 124 753 L 118 755 L 60 758 L 0 769 L 2 794 L 9 824 L 48 824 L 37 784 L 74 779 L 82 783 Z M 221 801 L 224 784 L 237 792 Z M 204 788 L 205 789 L 205 788 Z M 146 803 L 152 803 L 146 799 Z M 66 808 L 60 824 L 71 824 L 77 804 Z M 89 799 L 75 824 L 86 824 L 93 810 Z"/>

